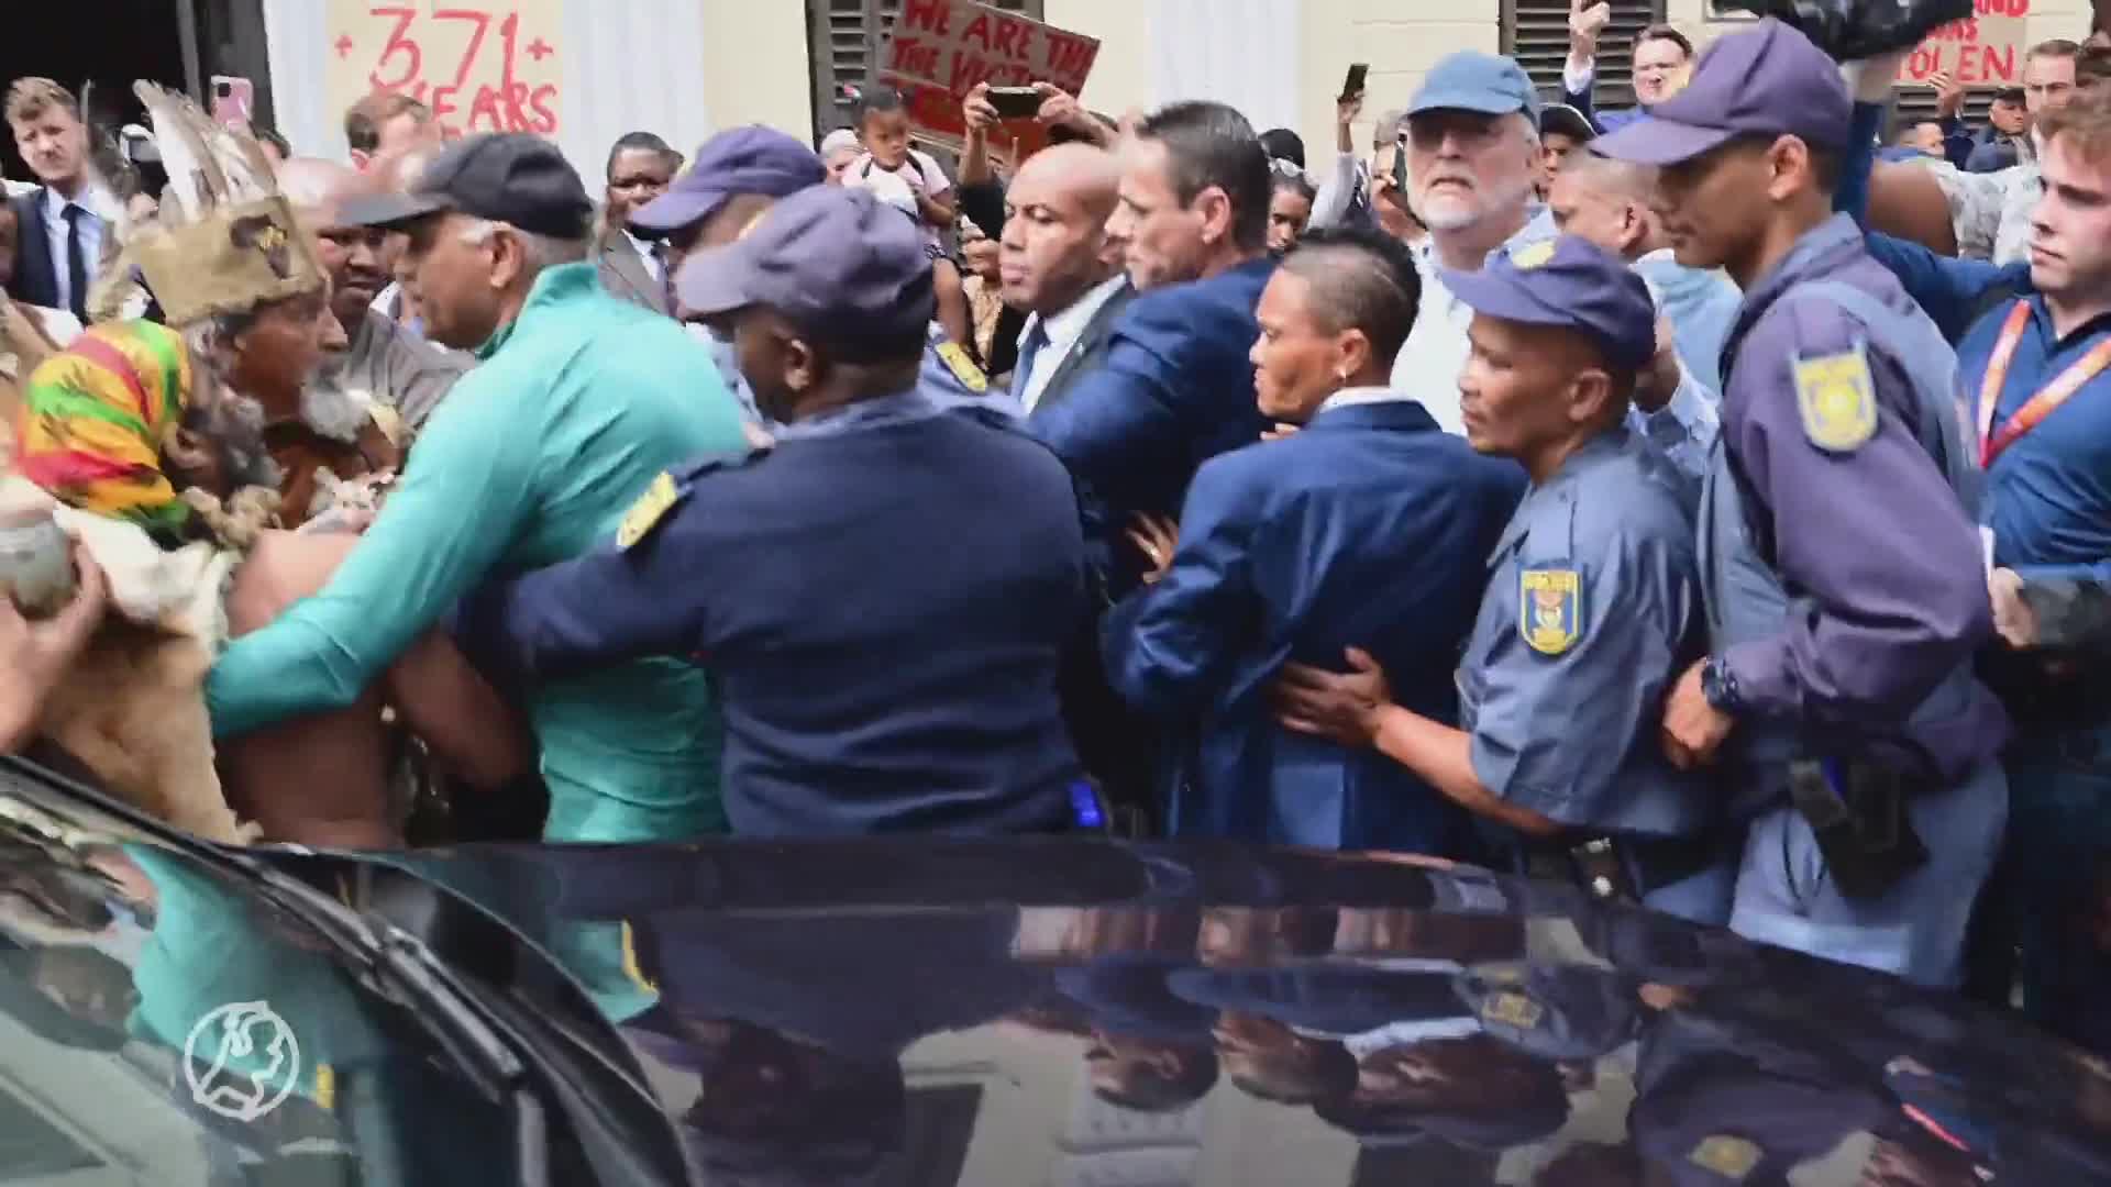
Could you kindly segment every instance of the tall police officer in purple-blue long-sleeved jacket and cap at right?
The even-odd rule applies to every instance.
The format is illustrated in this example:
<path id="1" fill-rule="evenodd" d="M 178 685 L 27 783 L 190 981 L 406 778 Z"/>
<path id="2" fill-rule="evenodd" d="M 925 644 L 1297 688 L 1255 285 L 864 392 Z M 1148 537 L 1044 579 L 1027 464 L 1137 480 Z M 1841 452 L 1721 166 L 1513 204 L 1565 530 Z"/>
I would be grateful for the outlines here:
<path id="1" fill-rule="evenodd" d="M 2008 813 L 1972 463 L 1934 323 L 1830 213 L 1851 101 L 1780 21 L 1718 40 L 1606 156 L 1659 165 L 1678 262 L 1746 294 L 1701 498 L 1710 655 L 1674 762 L 1750 822 L 1731 927 L 1955 984 Z"/>

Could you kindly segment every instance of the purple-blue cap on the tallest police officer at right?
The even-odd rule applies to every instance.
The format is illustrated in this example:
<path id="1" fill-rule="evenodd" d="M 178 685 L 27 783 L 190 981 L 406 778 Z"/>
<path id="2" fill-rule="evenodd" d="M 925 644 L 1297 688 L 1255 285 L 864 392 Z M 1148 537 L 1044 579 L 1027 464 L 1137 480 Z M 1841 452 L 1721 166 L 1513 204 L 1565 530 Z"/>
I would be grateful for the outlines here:
<path id="1" fill-rule="evenodd" d="M 1794 135 L 1847 148 L 1853 99 L 1839 63 L 1775 19 L 1716 40 L 1693 80 L 1592 148 L 1636 165 L 1678 165 L 1739 135 Z"/>

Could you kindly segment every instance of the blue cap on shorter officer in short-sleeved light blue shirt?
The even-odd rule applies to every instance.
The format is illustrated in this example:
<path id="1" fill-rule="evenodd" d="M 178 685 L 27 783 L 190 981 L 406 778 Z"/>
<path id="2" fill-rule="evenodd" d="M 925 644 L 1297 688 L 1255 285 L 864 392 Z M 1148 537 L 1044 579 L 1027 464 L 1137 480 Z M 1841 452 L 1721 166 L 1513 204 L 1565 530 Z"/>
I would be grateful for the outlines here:
<path id="1" fill-rule="evenodd" d="M 1444 287 L 1473 313 L 1579 329 L 1619 368 L 1640 370 L 1657 353 L 1657 304 L 1625 260 L 1587 239 L 1562 234 L 1497 253 L 1478 272 L 1442 272 Z"/>

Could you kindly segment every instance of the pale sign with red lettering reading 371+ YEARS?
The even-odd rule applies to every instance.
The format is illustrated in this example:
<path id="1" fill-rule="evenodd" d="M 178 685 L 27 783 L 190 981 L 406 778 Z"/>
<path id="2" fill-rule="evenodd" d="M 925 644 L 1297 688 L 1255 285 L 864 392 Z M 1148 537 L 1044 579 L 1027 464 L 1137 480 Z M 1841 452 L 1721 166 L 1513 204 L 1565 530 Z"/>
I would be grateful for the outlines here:
<path id="1" fill-rule="evenodd" d="M 329 110 L 399 91 L 448 135 L 557 135 L 562 17 L 562 0 L 329 0 Z"/>

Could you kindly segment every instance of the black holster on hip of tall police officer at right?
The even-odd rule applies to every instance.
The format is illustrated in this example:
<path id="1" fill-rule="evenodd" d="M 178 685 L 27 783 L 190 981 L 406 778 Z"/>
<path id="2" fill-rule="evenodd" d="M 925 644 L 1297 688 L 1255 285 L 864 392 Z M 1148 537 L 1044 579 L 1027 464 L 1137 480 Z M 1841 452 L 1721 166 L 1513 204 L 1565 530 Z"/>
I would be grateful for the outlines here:
<path id="1" fill-rule="evenodd" d="M 1788 794 L 1843 896 L 1879 898 L 1927 864 L 1927 845 L 1906 815 L 1913 792 L 1898 771 L 1799 758 L 1788 765 Z"/>

